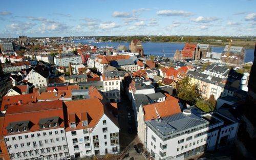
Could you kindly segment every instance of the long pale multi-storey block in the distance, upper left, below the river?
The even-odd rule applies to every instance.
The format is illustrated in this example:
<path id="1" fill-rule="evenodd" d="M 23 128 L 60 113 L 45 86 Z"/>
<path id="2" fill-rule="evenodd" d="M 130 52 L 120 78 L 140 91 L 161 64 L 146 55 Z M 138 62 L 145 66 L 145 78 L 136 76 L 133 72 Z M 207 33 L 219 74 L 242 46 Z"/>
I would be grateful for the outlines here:
<path id="1" fill-rule="evenodd" d="M 82 57 L 73 54 L 61 54 L 54 57 L 54 64 L 56 66 L 69 66 L 71 64 L 82 64 Z"/>

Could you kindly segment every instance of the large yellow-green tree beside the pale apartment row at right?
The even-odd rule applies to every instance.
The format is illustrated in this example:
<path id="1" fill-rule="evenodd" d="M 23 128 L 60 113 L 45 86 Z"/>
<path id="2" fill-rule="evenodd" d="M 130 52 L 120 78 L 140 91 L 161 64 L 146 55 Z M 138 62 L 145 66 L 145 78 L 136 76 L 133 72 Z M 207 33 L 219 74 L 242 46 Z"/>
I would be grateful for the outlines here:
<path id="1" fill-rule="evenodd" d="M 177 86 L 178 97 L 188 103 L 195 104 L 200 98 L 197 86 L 190 84 L 189 77 L 185 77 L 179 81 Z"/>

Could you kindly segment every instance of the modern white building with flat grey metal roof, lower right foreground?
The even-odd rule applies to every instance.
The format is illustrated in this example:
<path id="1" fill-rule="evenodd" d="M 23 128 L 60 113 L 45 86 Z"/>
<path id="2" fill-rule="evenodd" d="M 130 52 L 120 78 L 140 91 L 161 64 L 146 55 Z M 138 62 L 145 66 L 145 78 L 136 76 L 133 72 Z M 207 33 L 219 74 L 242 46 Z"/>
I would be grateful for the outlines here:
<path id="1" fill-rule="evenodd" d="M 157 160 L 184 159 L 214 150 L 232 142 L 238 130 L 238 122 L 217 112 L 198 117 L 190 110 L 146 121 L 146 125 L 146 149 Z"/>

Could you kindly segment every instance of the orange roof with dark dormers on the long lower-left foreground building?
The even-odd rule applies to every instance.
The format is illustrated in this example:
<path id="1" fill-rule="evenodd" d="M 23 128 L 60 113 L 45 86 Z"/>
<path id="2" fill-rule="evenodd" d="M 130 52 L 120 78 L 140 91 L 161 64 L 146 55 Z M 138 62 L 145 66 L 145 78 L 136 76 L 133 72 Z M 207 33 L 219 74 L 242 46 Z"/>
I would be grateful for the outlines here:
<path id="1" fill-rule="evenodd" d="M 31 128 L 27 132 L 37 131 L 40 129 L 38 125 L 39 120 L 50 117 L 59 117 L 62 119 L 59 121 L 59 127 L 64 127 L 62 101 L 11 105 L 6 111 L 4 128 L 11 122 L 30 121 L 33 125 L 31 125 Z M 4 129 L 3 135 L 7 134 L 7 129 Z"/>

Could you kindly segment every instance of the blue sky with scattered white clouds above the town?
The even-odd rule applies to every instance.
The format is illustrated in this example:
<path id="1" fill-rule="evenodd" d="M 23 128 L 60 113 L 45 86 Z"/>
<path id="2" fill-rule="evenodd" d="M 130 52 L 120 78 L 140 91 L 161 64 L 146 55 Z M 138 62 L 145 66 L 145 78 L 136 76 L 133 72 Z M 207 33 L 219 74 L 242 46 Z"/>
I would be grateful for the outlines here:
<path id="1" fill-rule="evenodd" d="M 2 1 L 0 37 L 256 36 L 256 1 Z"/>

